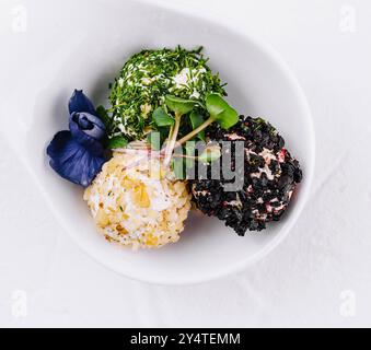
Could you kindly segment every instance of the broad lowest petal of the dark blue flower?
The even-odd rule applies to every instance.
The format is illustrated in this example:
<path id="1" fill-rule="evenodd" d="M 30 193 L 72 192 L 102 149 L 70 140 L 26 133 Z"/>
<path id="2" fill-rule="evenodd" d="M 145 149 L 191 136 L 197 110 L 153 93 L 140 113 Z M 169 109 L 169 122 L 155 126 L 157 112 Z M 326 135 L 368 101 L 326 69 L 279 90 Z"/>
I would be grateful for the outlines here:
<path id="1" fill-rule="evenodd" d="M 77 142 L 70 131 L 58 132 L 47 148 L 50 166 L 61 177 L 88 187 L 105 162 L 102 145 L 94 142 L 97 144 L 94 145 L 95 150 L 101 149 L 101 153 L 94 154 L 90 148 Z"/>

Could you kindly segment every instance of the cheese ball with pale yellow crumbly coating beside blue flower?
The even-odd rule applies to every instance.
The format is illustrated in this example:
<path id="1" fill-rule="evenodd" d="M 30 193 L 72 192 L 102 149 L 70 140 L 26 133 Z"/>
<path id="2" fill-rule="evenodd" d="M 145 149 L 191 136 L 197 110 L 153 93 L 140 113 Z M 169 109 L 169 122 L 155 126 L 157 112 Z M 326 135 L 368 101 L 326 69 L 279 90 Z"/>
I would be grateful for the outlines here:
<path id="1" fill-rule="evenodd" d="M 166 178 L 162 162 L 140 151 L 114 153 L 84 200 L 107 241 L 132 249 L 177 242 L 190 210 L 186 183 Z"/>

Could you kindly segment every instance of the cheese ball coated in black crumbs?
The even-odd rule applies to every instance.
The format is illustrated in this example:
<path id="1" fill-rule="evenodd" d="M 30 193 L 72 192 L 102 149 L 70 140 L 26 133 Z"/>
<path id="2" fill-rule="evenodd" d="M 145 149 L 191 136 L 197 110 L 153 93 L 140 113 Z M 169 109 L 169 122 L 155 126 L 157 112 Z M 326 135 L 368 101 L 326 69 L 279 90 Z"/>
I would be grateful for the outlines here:
<path id="1" fill-rule="evenodd" d="M 211 179 L 209 165 L 206 179 L 197 179 L 196 170 L 196 179 L 189 182 L 196 207 L 224 221 L 241 236 L 247 230 L 262 231 L 267 222 L 279 221 L 302 179 L 299 162 L 285 149 L 283 138 L 262 118 L 243 116 L 228 131 L 210 127 L 207 137 L 220 145 L 221 141 L 231 141 L 232 171 L 235 171 L 235 142 L 244 142 L 244 168 L 240 174 L 236 172 L 244 182 L 241 190 L 224 191 L 224 185 L 234 180 L 225 180 L 222 170 L 221 179 Z"/>

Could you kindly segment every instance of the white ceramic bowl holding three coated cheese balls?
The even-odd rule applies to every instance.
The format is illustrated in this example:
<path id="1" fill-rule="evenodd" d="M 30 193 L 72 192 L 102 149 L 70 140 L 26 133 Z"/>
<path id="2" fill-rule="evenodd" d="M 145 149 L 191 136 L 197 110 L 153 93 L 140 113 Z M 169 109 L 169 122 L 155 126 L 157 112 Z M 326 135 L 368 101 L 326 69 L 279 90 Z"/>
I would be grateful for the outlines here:
<path id="1" fill-rule="evenodd" d="M 2 40 L 8 55 L 0 58 L 7 82 L 1 85 L 1 132 L 82 249 L 124 276 L 184 284 L 239 271 L 278 245 L 308 198 L 314 133 L 297 80 L 271 49 L 192 11 L 140 2 L 40 0 L 25 10 L 26 31 L 10 25 Z M 108 83 L 131 54 L 178 44 L 205 46 L 211 67 L 229 83 L 230 103 L 241 114 L 265 117 L 278 128 L 300 160 L 304 180 L 285 220 L 263 233 L 239 237 L 218 220 L 193 214 L 177 244 L 132 253 L 97 234 L 82 190 L 51 171 L 45 149 L 55 132 L 67 128 L 67 102 L 74 88 L 84 89 L 96 105 L 106 103 Z"/>

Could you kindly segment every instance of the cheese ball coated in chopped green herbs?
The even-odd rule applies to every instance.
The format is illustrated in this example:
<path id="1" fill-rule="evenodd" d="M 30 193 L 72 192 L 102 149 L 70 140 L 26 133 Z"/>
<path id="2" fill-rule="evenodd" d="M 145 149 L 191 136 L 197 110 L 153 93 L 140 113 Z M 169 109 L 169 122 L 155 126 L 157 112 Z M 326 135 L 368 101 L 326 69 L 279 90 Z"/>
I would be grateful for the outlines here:
<path id="1" fill-rule="evenodd" d="M 225 95 L 219 75 L 212 73 L 207 61 L 201 48 L 164 48 L 134 55 L 112 88 L 108 138 L 124 136 L 128 140 L 143 139 L 153 127 L 152 113 L 159 106 L 167 112 L 167 94 L 197 101 L 199 109 L 206 115 L 204 106 L 207 94 Z"/>

